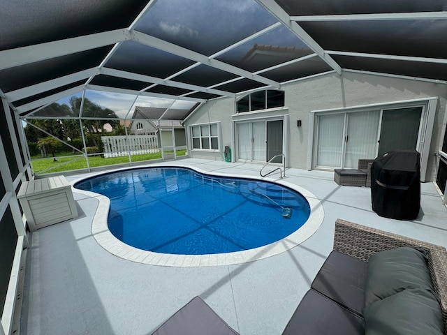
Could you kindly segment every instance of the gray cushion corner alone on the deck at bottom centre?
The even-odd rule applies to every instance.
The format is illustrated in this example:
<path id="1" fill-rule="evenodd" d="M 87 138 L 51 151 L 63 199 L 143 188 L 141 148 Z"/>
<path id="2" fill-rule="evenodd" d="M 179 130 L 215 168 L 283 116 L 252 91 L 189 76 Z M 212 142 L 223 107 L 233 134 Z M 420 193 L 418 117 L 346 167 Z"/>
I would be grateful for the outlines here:
<path id="1" fill-rule="evenodd" d="M 237 335 L 205 301 L 195 297 L 183 306 L 153 335 Z"/>

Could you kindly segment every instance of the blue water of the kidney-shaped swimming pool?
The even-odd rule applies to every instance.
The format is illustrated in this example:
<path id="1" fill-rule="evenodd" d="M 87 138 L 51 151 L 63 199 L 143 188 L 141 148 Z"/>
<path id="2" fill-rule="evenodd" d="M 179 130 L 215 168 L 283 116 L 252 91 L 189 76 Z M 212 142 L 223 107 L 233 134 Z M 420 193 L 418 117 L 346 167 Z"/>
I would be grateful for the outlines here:
<path id="1" fill-rule="evenodd" d="M 201 255 L 265 246 L 298 230 L 310 207 L 298 192 L 187 168 L 140 168 L 75 185 L 110 199 L 108 227 L 130 246 Z"/>

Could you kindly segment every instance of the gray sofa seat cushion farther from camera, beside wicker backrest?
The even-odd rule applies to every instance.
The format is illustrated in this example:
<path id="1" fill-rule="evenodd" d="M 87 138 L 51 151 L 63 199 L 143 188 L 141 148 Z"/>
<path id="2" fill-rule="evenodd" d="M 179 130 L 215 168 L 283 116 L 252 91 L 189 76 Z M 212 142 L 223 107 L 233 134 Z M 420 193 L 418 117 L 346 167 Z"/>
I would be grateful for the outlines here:
<path id="1" fill-rule="evenodd" d="M 311 288 L 362 315 L 367 264 L 358 258 L 332 251 L 318 271 Z"/>

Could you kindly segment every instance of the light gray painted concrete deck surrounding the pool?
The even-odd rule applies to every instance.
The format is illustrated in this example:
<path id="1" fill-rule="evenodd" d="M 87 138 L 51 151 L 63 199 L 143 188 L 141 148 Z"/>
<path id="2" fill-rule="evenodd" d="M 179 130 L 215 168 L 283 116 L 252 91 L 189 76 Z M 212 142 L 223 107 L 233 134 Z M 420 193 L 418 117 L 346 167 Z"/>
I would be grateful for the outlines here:
<path id="1" fill-rule="evenodd" d="M 246 177 L 257 177 L 262 166 L 191 158 L 152 165 Z M 372 211 L 369 188 L 339 186 L 333 175 L 286 170 L 284 181 L 323 206 L 323 223 L 311 237 L 262 260 L 214 267 L 145 265 L 112 255 L 91 233 L 98 200 L 75 191 L 78 218 L 30 235 L 21 334 L 152 334 L 196 295 L 241 335 L 281 334 L 332 250 L 336 218 L 447 247 L 447 208 L 434 184 L 421 184 L 418 218 L 397 221 Z"/>

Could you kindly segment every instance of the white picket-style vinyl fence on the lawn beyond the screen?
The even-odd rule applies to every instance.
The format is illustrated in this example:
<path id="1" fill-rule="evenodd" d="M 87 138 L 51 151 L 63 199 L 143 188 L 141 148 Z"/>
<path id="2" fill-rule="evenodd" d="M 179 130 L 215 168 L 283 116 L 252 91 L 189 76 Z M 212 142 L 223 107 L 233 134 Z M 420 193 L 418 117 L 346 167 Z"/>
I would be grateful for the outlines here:
<path id="1" fill-rule="evenodd" d="M 104 157 L 118 157 L 129 155 L 152 154 L 159 152 L 159 140 L 156 135 L 101 136 L 104 146 Z"/>

